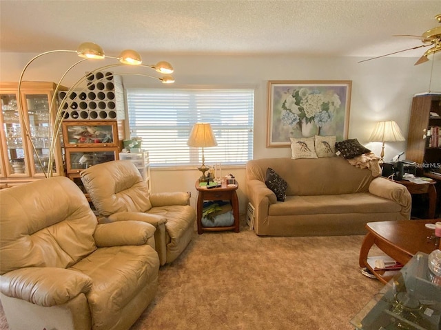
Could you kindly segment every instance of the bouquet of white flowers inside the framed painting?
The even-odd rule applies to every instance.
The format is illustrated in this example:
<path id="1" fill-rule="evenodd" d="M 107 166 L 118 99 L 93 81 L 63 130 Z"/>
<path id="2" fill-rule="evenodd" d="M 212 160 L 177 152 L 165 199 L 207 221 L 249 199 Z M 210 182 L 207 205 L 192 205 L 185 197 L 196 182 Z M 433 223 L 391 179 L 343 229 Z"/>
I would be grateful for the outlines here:
<path id="1" fill-rule="evenodd" d="M 287 126 L 298 122 L 314 121 L 318 127 L 330 122 L 341 105 L 340 97 L 334 91 L 320 91 L 314 88 L 294 89 L 282 104 L 281 120 Z"/>

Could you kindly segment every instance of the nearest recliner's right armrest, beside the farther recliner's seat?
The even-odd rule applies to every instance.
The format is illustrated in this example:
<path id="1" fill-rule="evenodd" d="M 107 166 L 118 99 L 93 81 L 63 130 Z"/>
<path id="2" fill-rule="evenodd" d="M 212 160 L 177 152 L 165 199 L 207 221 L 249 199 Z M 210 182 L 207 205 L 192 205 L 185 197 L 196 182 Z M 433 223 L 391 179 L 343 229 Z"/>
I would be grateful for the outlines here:
<path id="1" fill-rule="evenodd" d="M 141 221 L 116 221 L 96 226 L 94 240 L 99 248 L 119 245 L 143 245 L 154 239 L 154 225 Z"/>

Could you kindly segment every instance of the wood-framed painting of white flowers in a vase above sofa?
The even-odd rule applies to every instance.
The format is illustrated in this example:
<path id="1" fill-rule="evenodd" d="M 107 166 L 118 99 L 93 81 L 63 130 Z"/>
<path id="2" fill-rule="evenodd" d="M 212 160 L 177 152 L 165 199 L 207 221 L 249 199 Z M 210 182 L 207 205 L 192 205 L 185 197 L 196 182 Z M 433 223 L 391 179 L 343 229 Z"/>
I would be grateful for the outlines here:
<path id="1" fill-rule="evenodd" d="M 336 135 L 346 140 L 351 81 L 269 81 L 267 146 L 289 146 L 289 137 Z"/>

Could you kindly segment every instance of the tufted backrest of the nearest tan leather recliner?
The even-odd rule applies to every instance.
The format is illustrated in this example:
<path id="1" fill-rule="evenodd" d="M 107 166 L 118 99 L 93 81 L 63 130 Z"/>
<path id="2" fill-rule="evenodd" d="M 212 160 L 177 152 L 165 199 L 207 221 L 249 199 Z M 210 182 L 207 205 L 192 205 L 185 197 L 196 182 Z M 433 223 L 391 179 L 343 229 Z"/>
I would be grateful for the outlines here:
<path id="1" fill-rule="evenodd" d="M 67 177 L 0 190 L 0 274 L 74 265 L 96 250 L 96 217 Z"/>

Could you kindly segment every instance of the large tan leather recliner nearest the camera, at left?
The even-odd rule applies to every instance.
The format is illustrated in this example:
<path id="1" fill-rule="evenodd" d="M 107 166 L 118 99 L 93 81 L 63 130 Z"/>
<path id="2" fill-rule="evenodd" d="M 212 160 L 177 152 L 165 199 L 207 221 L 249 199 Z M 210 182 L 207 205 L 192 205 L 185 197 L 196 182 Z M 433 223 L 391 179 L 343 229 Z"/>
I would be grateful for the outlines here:
<path id="1" fill-rule="evenodd" d="M 99 225 L 67 177 L 0 190 L 0 299 L 10 329 L 129 329 L 154 299 L 154 226 Z"/>

